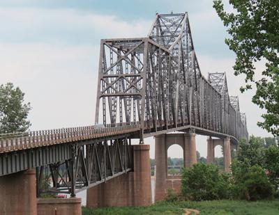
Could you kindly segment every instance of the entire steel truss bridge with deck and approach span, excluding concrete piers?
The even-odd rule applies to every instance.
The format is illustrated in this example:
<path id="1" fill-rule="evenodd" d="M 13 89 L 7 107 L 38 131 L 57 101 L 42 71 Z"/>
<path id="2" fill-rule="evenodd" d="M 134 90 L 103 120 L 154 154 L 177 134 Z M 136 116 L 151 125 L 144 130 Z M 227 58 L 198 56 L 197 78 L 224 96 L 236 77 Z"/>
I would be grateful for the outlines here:
<path id="1" fill-rule="evenodd" d="M 0 176 L 36 168 L 38 196 L 75 196 L 133 170 L 132 138 L 181 131 L 248 139 L 225 73 L 206 79 L 199 69 L 188 13 L 157 14 L 146 38 L 101 40 L 96 123 L 104 127 L 1 135 Z"/>

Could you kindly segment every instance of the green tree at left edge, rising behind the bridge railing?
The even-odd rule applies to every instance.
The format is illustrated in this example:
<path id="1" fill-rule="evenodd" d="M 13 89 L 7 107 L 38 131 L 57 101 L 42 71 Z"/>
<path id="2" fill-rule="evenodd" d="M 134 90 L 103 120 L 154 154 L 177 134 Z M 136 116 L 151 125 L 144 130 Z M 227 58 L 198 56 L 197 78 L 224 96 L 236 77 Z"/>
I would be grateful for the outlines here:
<path id="1" fill-rule="evenodd" d="M 13 83 L 0 86 L 0 134 L 26 132 L 31 126 L 27 116 L 30 103 L 24 104 L 24 93 Z"/>

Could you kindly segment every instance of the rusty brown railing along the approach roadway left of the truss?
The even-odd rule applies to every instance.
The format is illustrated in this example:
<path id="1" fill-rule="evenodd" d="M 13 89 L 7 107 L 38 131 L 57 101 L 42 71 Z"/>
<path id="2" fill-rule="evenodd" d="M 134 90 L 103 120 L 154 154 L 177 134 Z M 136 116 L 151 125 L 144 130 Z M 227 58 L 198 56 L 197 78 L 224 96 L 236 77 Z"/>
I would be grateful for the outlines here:
<path id="1" fill-rule="evenodd" d="M 41 130 L 35 132 L 12 133 L 0 135 L 0 153 L 45 145 L 70 143 L 103 136 L 126 134 L 140 129 L 137 123 L 124 123 L 111 127 L 72 127 Z"/>

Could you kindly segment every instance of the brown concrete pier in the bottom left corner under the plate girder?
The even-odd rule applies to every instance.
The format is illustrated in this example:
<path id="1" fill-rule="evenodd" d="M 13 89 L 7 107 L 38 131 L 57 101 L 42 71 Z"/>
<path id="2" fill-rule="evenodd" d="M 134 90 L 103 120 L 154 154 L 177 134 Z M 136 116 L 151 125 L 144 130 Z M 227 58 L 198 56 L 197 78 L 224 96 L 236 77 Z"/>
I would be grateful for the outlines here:
<path id="1" fill-rule="evenodd" d="M 0 214 L 37 214 L 35 170 L 0 177 Z"/>

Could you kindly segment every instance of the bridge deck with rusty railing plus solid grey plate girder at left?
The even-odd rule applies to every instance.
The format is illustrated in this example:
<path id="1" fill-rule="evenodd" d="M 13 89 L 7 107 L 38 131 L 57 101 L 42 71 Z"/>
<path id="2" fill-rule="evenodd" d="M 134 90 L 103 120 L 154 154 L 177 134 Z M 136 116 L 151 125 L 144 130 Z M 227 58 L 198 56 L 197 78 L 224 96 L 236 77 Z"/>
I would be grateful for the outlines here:
<path id="1" fill-rule="evenodd" d="M 159 127 L 159 124 L 156 131 L 153 128 L 147 129 L 147 125 L 145 125 L 144 138 L 168 132 L 193 130 L 196 134 L 218 138 L 229 137 L 233 143 L 237 143 L 234 136 L 212 132 L 208 129 L 190 125 L 181 127 L 169 125 L 167 129 L 164 129 L 165 126 L 162 128 Z M 140 138 L 140 122 L 125 122 L 106 126 L 104 128 L 87 126 L 2 134 L 0 136 L 0 176 L 70 159 L 73 144 L 83 145 L 119 138 Z M 45 149 L 47 149 L 47 152 L 50 150 L 51 154 L 43 153 Z M 52 157 L 52 159 L 47 157 Z"/>

